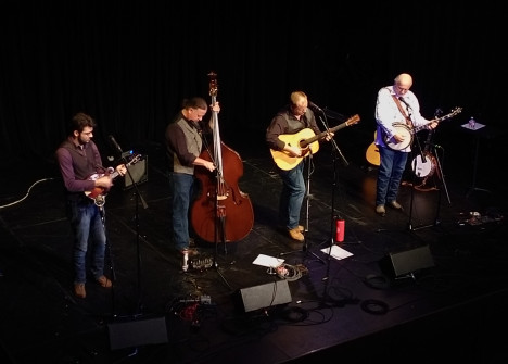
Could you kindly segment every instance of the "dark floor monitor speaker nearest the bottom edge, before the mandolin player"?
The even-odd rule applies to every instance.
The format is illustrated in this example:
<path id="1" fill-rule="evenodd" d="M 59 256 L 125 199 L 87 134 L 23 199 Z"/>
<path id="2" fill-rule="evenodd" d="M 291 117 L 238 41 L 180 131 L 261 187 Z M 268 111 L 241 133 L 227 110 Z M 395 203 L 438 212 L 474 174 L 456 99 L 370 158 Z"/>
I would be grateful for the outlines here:
<path id="1" fill-rule="evenodd" d="M 107 328 L 111 350 L 167 342 L 165 317 L 114 323 Z"/>

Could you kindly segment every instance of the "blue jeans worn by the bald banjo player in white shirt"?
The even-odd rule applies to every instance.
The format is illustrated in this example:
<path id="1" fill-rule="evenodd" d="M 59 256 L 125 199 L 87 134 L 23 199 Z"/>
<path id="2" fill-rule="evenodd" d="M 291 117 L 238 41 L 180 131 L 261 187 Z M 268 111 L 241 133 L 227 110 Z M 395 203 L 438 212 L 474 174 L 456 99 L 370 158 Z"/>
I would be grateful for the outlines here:
<path id="1" fill-rule="evenodd" d="M 379 154 L 381 163 L 378 170 L 376 205 L 385 204 L 397 199 L 398 187 L 409 153 L 379 146 Z"/>

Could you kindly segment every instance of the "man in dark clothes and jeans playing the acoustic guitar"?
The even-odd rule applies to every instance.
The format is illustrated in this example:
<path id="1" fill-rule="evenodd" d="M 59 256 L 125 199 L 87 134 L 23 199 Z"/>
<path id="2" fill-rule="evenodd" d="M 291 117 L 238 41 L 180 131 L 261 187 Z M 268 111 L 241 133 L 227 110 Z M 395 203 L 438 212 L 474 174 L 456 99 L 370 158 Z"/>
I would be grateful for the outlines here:
<path id="1" fill-rule="evenodd" d="M 284 139 L 283 136 L 296 135 L 304 129 L 310 129 L 315 135 L 321 134 L 314 112 L 308 109 L 307 96 L 302 91 L 294 91 L 291 93 L 290 103 L 271 120 L 266 130 L 266 142 L 271 150 L 283 152 L 295 161 L 295 166 L 292 168 L 281 168 L 279 164 L 277 164 L 277 168 L 282 178 L 279 221 L 288 229 L 291 239 L 299 242 L 305 241 L 304 227 L 299 225 L 299 222 L 306 190 L 303 177 L 304 163 L 300 162 L 312 153 L 312 146 L 302 150 L 297 140 L 295 143 L 291 143 L 282 139 Z M 321 139 L 329 141 L 332 137 L 333 133 L 327 133 Z"/>

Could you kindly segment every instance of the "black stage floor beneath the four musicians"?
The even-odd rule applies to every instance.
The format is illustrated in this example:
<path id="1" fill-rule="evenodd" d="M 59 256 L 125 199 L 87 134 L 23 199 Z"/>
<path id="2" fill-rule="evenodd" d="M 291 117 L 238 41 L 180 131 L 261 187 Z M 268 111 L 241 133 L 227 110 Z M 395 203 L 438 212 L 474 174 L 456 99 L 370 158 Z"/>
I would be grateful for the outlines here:
<path id="1" fill-rule="evenodd" d="M 114 287 L 89 283 L 82 300 L 73 296 L 72 238 L 54 163 L 9 164 L 0 194 L 0 361 L 508 361 L 499 176 L 483 179 L 482 190 L 470 183 L 470 165 L 452 160 L 441 178 L 434 172 L 416 189 L 422 179 L 408 168 L 405 211 L 380 217 L 377 171 L 364 151 L 356 158 L 344 148 L 345 165 L 322 147 L 312 159 L 306 241 L 299 244 L 277 228 L 281 183 L 269 153 L 240 147 L 243 173 L 234 173 L 254 226 L 240 241 L 198 240 L 201 255 L 187 273 L 170 243 L 163 148 L 139 147 L 138 189 L 118 179 L 106 197 Z M 345 222 L 343 241 L 334 241 L 334 216 Z M 351 255 L 329 256 L 322 250 L 331 244 Z M 253 264 L 259 254 L 283 259 L 288 275 Z"/>

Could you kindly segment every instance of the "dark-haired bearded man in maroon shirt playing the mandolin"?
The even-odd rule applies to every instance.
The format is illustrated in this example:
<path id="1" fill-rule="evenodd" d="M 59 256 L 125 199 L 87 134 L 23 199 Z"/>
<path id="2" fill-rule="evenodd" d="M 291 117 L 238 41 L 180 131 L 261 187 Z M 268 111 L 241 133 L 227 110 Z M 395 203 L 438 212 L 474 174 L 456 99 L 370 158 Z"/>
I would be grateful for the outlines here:
<path id="1" fill-rule="evenodd" d="M 102 160 L 93 138 L 94 120 L 85 114 L 75 114 L 69 123 L 68 137 L 56 149 L 56 160 L 65 186 L 67 217 L 74 234 L 73 264 L 75 271 L 74 293 L 87 296 L 87 250 L 88 241 L 92 244 L 90 274 L 102 287 L 112 287 L 112 281 L 104 276 L 104 254 L 106 235 L 103 225 L 103 206 L 94 203 L 87 192 L 100 188 L 109 190 L 113 179 L 102 167 Z M 116 173 L 124 176 L 126 166 L 120 164 Z M 89 178 L 101 174 L 101 177 Z"/>

